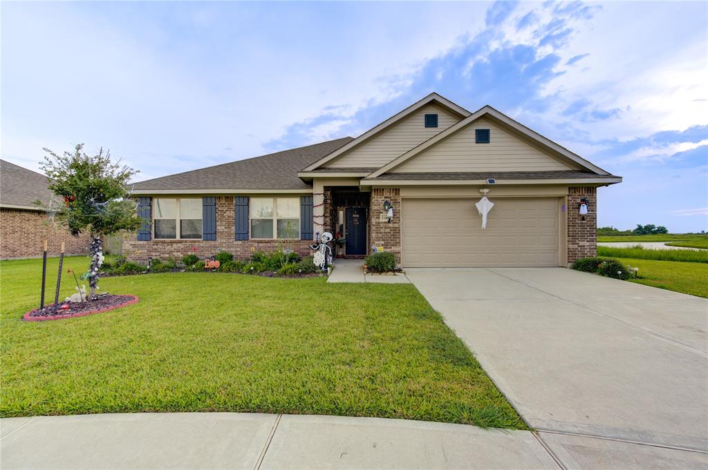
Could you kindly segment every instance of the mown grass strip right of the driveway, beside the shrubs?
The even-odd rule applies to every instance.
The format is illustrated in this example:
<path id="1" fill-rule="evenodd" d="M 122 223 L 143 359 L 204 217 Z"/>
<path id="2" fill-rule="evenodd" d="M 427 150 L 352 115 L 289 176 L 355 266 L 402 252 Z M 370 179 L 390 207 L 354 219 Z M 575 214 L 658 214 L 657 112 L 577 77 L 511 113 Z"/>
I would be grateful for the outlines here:
<path id="1" fill-rule="evenodd" d="M 636 258 L 619 261 L 639 268 L 640 278 L 631 282 L 708 298 L 708 264 Z"/>

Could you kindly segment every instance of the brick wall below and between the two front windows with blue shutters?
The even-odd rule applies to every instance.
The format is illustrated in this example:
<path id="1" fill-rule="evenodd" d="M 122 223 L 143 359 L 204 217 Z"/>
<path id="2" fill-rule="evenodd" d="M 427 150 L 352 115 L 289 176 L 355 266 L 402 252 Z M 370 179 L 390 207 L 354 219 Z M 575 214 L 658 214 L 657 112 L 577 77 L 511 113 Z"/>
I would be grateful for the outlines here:
<path id="1" fill-rule="evenodd" d="M 309 256 L 312 250 L 309 240 L 234 240 L 234 196 L 217 196 L 217 239 L 204 240 L 149 240 L 139 242 L 135 233 L 125 235 L 123 254 L 137 262 L 147 262 L 152 258 L 181 258 L 194 253 L 201 259 L 217 254 L 217 250 L 231 252 L 236 259 L 251 256 L 251 248 L 256 251 L 270 252 L 280 248 L 295 250 L 301 257 Z"/>

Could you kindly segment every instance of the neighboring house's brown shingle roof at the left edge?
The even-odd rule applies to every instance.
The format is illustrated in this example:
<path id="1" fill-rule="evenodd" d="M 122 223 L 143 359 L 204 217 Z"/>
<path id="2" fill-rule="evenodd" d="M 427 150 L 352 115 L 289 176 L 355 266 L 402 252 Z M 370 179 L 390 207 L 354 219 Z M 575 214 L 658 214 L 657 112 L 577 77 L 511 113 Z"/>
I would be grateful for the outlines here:
<path id="1" fill-rule="evenodd" d="M 51 182 L 41 173 L 0 160 L 0 206 L 37 211 L 35 201 L 49 204 L 52 200 Z"/>

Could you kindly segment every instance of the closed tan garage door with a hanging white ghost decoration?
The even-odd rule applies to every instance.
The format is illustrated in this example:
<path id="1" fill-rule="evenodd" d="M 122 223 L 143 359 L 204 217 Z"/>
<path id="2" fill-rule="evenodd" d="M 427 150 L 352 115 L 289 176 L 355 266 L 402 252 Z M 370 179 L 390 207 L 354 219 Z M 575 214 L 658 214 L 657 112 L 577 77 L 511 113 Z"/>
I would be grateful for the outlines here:
<path id="1" fill-rule="evenodd" d="M 477 199 L 404 199 L 404 267 L 558 266 L 558 198 L 493 198 L 486 230 Z"/>

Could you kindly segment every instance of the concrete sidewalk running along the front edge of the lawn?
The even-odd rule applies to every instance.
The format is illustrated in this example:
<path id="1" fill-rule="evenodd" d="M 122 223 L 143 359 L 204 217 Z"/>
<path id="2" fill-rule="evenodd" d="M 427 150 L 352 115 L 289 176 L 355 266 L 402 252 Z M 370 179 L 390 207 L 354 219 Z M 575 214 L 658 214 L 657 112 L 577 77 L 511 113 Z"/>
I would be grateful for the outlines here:
<path id="1" fill-rule="evenodd" d="M 8 469 L 559 469 L 528 431 L 382 418 L 135 413 L 0 420 Z"/>

